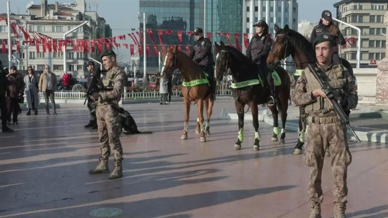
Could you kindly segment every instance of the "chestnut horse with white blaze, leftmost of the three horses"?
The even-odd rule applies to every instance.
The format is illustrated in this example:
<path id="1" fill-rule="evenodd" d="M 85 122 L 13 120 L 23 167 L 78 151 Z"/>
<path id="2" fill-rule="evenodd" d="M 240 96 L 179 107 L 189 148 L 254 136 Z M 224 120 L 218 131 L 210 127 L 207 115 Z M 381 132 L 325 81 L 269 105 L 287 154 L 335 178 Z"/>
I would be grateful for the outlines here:
<path id="1" fill-rule="evenodd" d="M 182 74 L 183 104 L 186 109 L 183 134 L 180 138 L 187 139 L 190 105 L 191 102 L 196 102 L 199 118 L 197 128 L 199 127 L 199 133 L 201 134 L 200 141 L 205 142 L 206 134 L 210 134 L 210 117 L 212 116 L 214 105 L 214 101 L 210 100 L 209 80 L 205 77 L 205 72 L 201 66 L 192 61 L 186 54 L 179 51 L 177 46 L 168 49 L 164 58 L 161 77 L 168 78 L 175 69 L 179 69 Z M 208 112 L 206 125 L 204 123 L 204 106 Z"/>

